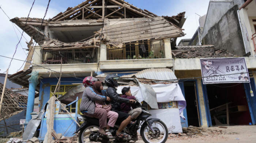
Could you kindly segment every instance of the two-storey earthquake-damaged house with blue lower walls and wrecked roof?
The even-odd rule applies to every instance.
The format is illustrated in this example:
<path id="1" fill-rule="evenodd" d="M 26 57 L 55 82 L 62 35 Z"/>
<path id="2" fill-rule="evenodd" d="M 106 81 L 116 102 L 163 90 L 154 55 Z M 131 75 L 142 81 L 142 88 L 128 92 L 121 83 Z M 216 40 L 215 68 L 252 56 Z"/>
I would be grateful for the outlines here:
<path id="1" fill-rule="evenodd" d="M 26 120 L 32 119 L 35 91 L 39 92 L 38 108 L 44 109 L 52 96 L 61 99 L 71 90 L 83 90 L 81 83 L 86 76 L 109 73 L 125 76 L 139 72 L 150 75 L 158 72 L 159 75 L 147 77 L 150 81 L 139 80 L 154 82 L 159 80 L 156 78 L 161 77 L 164 71 L 166 75 L 172 76 L 161 80 L 177 82 L 172 72 L 174 59 L 171 53 L 177 38 L 185 35 L 182 32 L 185 12 L 175 16 L 158 16 L 123 0 L 106 1 L 84 1 L 49 20 L 11 19 L 31 36 L 31 41 L 27 43 L 29 56 L 24 70 L 9 77 L 9 80 L 29 88 L 30 108 L 27 109 Z M 32 38 L 39 46 L 32 47 Z M 29 62 L 32 65 L 30 68 Z M 150 68 L 154 69 L 143 71 Z M 181 98 L 183 100 L 184 97 Z M 75 118 L 80 106 L 79 99 L 74 102 L 77 99 L 67 102 L 61 100 Z M 177 108 L 176 104 L 172 103 L 170 107 Z M 146 107 L 150 109 L 148 105 Z M 177 112 L 180 120 L 181 111 Z M 61 118 L 54 118 L 54 125 L 57 124 L 54 130 L 65 133 L 64 136 L 72 136 L 77 126 L 70 115 L 58 111 L 54 117 Z M 44 116 L 41 119 L 39 140 L 44 140 L 47 119 Z M 60 127 L 61 124 L 67 127 Z"/>

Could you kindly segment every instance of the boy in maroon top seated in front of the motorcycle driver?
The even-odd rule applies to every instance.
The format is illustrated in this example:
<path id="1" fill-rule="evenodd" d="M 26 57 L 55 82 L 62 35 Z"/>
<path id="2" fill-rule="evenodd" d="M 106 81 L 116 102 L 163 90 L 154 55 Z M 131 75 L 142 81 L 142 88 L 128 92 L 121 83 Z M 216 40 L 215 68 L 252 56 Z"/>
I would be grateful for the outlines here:
<path id="1" fill-rule="evenodd" d="M 133 99 L 133 100 L 136 99 L 134 96 L 132 96 L 130 87 L 128 87 L 128 88 L 124 87 L 122 89 L 122 94 L 123 94 L 123 96 L 121 96 L 122 98 Z M 131 109 L 131 107 L 132 107 L 132 109 Z M 121 111 L 131 115 L 132 119 L 136 119 L 140 115 L 140 113 L 142 112 L 142 109 L 141 108 L 136 108 L 135 104 L 122 103 L 121 104 Z M 131 121 L 131 124 L 133 124 L 133 123 L 134 122 Z"/>

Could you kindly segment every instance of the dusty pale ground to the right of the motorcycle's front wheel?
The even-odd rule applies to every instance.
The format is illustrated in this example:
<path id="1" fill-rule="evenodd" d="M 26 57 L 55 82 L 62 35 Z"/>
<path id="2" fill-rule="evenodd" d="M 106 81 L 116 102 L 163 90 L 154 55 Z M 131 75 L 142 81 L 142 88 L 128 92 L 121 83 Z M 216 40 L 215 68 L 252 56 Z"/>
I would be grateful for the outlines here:
<path id="1" fill-rule="evenodd" d="M 166 143 L 256 143 L 255 125 L 227 126 L 227 128 L 208 127 L 203 130 L 202 136 L 169 137 Z M 138 143 L 143 143 L 143 140 L 140 139 Z"/>

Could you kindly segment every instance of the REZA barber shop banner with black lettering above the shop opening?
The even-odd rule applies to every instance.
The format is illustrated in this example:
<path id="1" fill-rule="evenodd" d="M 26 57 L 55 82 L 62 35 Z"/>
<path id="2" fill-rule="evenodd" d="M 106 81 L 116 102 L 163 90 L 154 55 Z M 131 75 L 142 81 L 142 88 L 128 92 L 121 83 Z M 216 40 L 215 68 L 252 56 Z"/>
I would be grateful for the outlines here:
<path id="1" fill-rule="evenodd" d="M 203 84 L 250 82 L 245 58 L 200 59 Z"/>

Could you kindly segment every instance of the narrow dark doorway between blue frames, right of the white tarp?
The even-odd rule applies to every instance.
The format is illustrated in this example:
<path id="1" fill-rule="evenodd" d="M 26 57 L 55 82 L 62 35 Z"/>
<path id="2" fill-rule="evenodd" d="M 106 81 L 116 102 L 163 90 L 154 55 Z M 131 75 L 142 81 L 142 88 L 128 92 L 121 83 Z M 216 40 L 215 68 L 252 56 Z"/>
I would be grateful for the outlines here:
<path id="1" fill-rule="evenodd" d="M 185 81 L 184 91 L 185 91 L 185 100 L 187 102 L 188 126 L 193 125 L 195 127 L 200 127 L 195 81 Z"/>

